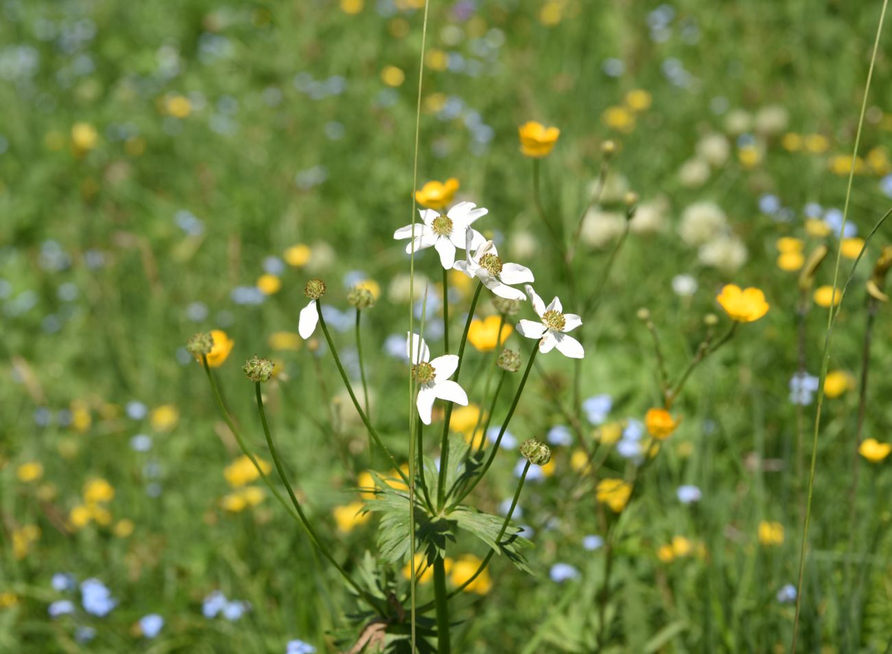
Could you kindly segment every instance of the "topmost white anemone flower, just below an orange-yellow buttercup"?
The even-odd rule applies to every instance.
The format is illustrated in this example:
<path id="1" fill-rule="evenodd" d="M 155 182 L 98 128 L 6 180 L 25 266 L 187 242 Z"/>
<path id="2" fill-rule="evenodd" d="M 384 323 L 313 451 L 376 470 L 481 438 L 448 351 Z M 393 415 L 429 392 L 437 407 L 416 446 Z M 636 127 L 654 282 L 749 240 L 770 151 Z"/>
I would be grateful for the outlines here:
<path id="1" fill-rule="evenodd" d="M 456 248 L 464 248 L 465 231 L 478 218 L 485 216 L 489 210 L 477 207 L 475 203 L 458 203 L 445 214 L 431 209 L 418 211 L 421 214 L 421 223 L 416 223 L 415 238 L 406 245 L 406 252 L 417 252 L 434 246 L 440 254 L 440 263 L 444 269 L 452 268 L 455 263 Z M 393 238 L 412 238 L 412 225 L 399 228 L 393 232 Z M 471 230 L 474 238 L 472 246 L 477 247 L 485 240 L 483 235 Z"/>

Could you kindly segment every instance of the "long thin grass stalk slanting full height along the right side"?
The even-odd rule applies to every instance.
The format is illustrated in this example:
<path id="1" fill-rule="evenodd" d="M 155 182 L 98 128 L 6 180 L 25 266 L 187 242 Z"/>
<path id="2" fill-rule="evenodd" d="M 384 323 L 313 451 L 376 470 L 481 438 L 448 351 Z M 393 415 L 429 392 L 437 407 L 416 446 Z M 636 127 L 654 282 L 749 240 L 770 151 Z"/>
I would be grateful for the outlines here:
<path id="1" fill-rule="evenodd" d="M 877 25 L 877 36 L 873 41 L 873 54 L 871 54 L 871 65 L 867 70 L 867 81 L 864 84 L 864 96 L 861 101 L 861 116 L 858 118 L 858 130 L 855 133 L 855 147 L 852 150 L 852 162 L 849 167 L 848 173 L 848 185 L 846 189 L 846 202 L 843 204 L 842 211 L 842 225 L 839 226 L 839 239 L 842 239 L 842 235 L 845 234 L 846 230 L 846 221 L 848 219 L 848 203 L 852 196 L 852 184 L 855 180 L 855 162 L 858 159 L 858 146 L 861 145 L 861 131 L 864 126 L 864 113 L 867 112 L 867 98 L 870 95 L 871 90 L 871 79 L 873 78 L 873 66 L 877 61 L 877 51 L 880 49 L 880 34 L 882 34 L 883 29 L 883 21 L 886 19 L 886 7 L 888 6 L 888 0 L 883 0 L 883 7 L 880 11 L 880 22 Z M 888 215 L 888 214 L 887 214 Z M 885 217 L 883 217 L 885 219 Z M 882 220 L 880 220 L 880 223 Z M 879 225 L 878 225 L 879 226 Z M 871 233 L 872 235 L 872 233 Z M 870 236 L 869 236 L 870 237 Z M 864 245 L 866 246 L 867 242 L 865 241 Z M 862 252 L 863 254 L 863 248 Z M 842 248 L 837 248 L 837 259 L 836 266 L 833 269 L 833 294 L 831 297 L 836 296 L 837 286 L 838 286 L 838 276 L 839 276 L 839 261 L 842 255 Z M 858 259 L 861 259 L 861 254 L 858 255 Z M 857 265 L 857 261 L 855 261 L 855 265 Z M 854 272 L 854 269 L 853 269 Z M 851 276 L 849 277 L 851 279 Z M 848 283 L 847 285 L 848 286 Z M 843 290 L 843 295 L 845 295 L 845 289 Z M 840 306 L 842 305 L 842 298 L 839 301 Z M 837 311 L 838 313 L 838 311 Z M 814 470 L 817 465 L 818 458 L 818 434 L 821 430 L 821 410 L 824 402 L 824 379 L 827 378 L 827 368 L 830 364 L 830 337 L 833 334 L 833 321 L 834 321 L 834 311 L 833 311 L 833 302 L 830 302 L 830 307 L 827 310 L 827 334 L 824 337 L 824 351 L 822 354 L 822 363 L 821 363 L 821 378 L 818 385 L 818 406 L 814 416 L 814 435 L 812 439 L 812 463 L 811 468 L 809 470 L 808 476 L 808 499 L 805 504 L 805 522 L 802 526 L 802 543 L 799 549 L 799 575 L 796 584 L 796 613 L 793 617 L 793 640 L 790 643 L 790 654 L 795 654 L 796 652 L 796 644 L 799 635 L 799 614 L 802 611 L 802 582 L 805 577 L 805 550 L 808 542 L 808 527 L 812 521 L 812 496 L 814 493 Z"/>

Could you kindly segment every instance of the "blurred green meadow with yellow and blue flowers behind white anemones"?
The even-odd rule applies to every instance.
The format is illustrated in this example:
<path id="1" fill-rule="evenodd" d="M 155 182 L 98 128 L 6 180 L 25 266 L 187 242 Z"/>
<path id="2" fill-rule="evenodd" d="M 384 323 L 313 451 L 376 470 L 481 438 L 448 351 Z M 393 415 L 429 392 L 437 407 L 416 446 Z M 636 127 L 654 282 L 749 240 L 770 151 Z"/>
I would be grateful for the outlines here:
<path id="1" fill-rule="evenodd" d="M 406 460 L 409 305 L 442 353 L 442 269 L 418 252 L 410 291 L 393 231 L 412 219 L 414 188 L 456 178 L 456 201 L 489 209 L 475 228 L 535 271 L 546 302 L 577 310 L 533 165 L 552 220 L 572 234 L 584 214 L 579 294 L 604 282 L 584 327 L 587 443 L 552 397 L 571 402 L 573 366 L 540 355 L 474 495 L 503 515 L 517 444 L 552 446 L 513 515 L 533 574 L 493 559 L 452 601 L 454 646 L 788 651 L 834 265 L 839 252 L 842 286 L 892 197 L 881 39 L 839 237 L 881 8 L 433 0 L 413 184 L 422 0 L 0 0 L 0 651 L 359 652 L 355 601 L 242 458 L 186 341 L 232 340 L 215 372 L 267 461 L 240 368 L 255 353 L 275 361 L 268 416 L 326 550 L 404 594 L 401 565 L 369 563 L 378 517 L 357 512 L 366 471 L 391 467 L 369 451 L 321 335 L 297 335 L 304 285 L 326 281 L 354 388 L 347 295 L 376 298 L 362 311 L 368 403 Z M 535 163 L 518 145 L 528 120 L 560 129 Z M 798 651 L 892 647 L 892 320 L 874 273 L 889 230 L 866 245 L 833 332 Z M 827 258 L 803 275 L 821 245 Z M 454 344 L 474 287 L 449 275 Z M 650 461 L 651 331 L 678 377 L 704 320 L 728 324 L 715 296 L 731 283 L 762 289 L 771 309 L 693 372 Z M 469 333 L 471 404 L 451 422 L 467 439 L 488 437 L 475 429 L 499 315 L 483 298 Z M 502 335 L 525 357 L 516 318 Z M 618 511 L 586 481 L 589 445 L 607 476 L 648 459 L 609 547 Z M 450 544 L 450 586 L 486 551 Z M 431 585 L 417 584 L 420 602 Z"/>

